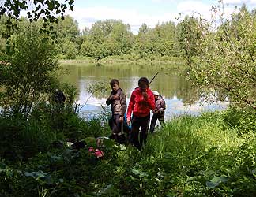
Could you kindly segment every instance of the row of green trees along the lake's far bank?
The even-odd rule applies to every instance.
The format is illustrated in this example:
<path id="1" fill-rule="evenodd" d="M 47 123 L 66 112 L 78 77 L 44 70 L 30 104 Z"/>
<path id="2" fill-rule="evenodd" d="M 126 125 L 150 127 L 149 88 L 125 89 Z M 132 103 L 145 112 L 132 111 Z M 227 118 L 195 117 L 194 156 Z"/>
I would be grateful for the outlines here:
<path id="1" fill-rule="evenodd" d="M 168 57 L 186 56 L 186 35 L 197 39 L 198 32 L 195 30 L 199 25 L 198 19 L 186 16 L 178 24 L 166 22 L 156 24 L 155 28 L 149 28 L 147 24 L 141 24 L 138 34 L 131 32 L 129 24 L 121 20 L 98 20 L 91 28 L 78 28 L 77 20 L 69 15 L 64 20 L 58 17 L 58 24 L 52 23 L 46 28 L 43 19 L 34 24 L 41 32 L 47 33 L 51 39 L 58 43 L 59 58 L 74 59 L 91 57 L 102 59 L 107 56 L 126 56 L 132 60 L 141 58 L 165 60 Z M 6 28 L 6 21 L 9 17 L 3 15 L 0 20 L 0 47 L 5 49 L 6 36 L 9 29 Z M 13 24 L 15 22 L 13 21 Z M 15 34 L 27 31 L 31 21 L 27 17 L 21 17 L 17 23 Z M 187 32 L 187 30 L 190 32 Z M 196 41 L 194 41 L 194 44 Z M 191 46 L 192 47 L 192 46 Z"/>

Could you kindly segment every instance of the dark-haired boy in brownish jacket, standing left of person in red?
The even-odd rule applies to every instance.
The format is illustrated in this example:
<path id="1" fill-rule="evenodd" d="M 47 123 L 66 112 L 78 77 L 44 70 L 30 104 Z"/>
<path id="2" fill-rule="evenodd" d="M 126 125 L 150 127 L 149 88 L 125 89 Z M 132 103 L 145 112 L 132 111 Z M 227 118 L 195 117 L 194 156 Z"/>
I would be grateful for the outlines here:
<path id="1" fill-rule="evenodd" d="M 110 82 L 111 95 L 107 98 L 107 106 L 111 105 L 112 112 L 112 136 L 116 142 L 122 143 L 123 141 L 123 117 L 126 113 L 126 95 L 119 87 L 119 80 L 113 79 Z"/>

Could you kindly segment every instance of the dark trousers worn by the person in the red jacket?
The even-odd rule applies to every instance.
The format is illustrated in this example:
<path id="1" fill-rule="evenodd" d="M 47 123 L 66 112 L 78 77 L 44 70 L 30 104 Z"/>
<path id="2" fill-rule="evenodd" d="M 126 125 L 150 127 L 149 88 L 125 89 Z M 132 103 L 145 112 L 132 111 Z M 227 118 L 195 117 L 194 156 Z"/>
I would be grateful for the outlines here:
<path id="1" fill-rule="evenodd" d="M 141 150 L 143 143 L 144 146 L 146 144 L 149 129 L 149 121 L 150 115 L 146 117 L 133 116 L 132 118 L 131 143 L 133 143 L 138 150 Z M 140 128 L 141 132 L 139 132 Z"/>

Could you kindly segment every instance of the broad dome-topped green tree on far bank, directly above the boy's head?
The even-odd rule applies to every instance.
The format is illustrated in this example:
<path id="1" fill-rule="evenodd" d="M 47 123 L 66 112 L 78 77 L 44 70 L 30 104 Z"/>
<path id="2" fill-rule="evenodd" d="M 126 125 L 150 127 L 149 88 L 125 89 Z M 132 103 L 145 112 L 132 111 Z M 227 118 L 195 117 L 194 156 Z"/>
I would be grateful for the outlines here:
<path id="1" fill-rule="evenodd" d="M 121 20 L 99 20 L 84 32 L 81 54 L 101 59 L 110 55 L 130 54 L 134 36 Z"/>

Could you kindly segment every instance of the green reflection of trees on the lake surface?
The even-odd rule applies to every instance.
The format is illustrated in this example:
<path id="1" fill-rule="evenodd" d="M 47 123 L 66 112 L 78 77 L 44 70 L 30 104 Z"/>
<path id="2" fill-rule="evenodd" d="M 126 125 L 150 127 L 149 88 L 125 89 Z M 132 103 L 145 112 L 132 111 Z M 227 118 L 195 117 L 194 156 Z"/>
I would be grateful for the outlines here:
<path id="1" fill-rule="evenodd" d="M 68 65 L 65 68 L 70 70 L 67 77 L 63 76 L 63 79 L 67 78 L 65 81 L 74 84 L 78 89 L 81 88 L 80 83 L 85 83 L 82 86 L 83 90 L 80 90 L 80 92 L 86 91 L 90 84 L 104 81 L 109 89 L 107 93 L 105 91 L 97 91 L 94 94 L 96 99 L 106 98 L 110 94 L 109 81 L 113 78 L 119 80 L 120 87 L 129 98 L 131 91 L 137 87 L 137 80 L 141 76 L 148 77 L 150 81 L 159 71 L 150 86 L 152 90 L 159 91 L 167 99 L 177 97 L 187 103 L 198 100 L 197 91 L 191 87 L 189 81 L 185 80 L 185 76 L 179 75 L 171 71 L 171 69 L 160 69 L 159 65 Z"/>

